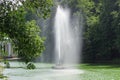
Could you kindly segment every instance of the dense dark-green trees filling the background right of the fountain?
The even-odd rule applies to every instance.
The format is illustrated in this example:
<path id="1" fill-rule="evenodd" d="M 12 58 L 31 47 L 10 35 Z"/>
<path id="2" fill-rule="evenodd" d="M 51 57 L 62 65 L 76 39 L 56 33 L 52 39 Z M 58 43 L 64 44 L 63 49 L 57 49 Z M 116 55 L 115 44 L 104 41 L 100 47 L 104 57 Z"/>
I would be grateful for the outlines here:
<path id="1" fill-rule="evenodd" d="M 83 59 L 87 62 L 120 58 L 120 0 L 62 0 L 84 16 Z"/>

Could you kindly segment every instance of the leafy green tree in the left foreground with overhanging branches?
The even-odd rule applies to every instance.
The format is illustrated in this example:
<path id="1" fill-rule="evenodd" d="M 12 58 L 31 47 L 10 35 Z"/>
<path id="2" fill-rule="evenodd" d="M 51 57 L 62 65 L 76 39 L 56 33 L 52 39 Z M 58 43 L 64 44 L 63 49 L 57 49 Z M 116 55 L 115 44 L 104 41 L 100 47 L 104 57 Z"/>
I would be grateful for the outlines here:
<path id="1" fill-rule="evenodd" d="M 31 11 L 39 17 L 49 16 L 52 0 L 2 0 L 0 2 L 0 32 L 8 35 L 15 44 L 18 56 L 26 63 L 45 49 L 44 38 L 34 20 L 27 21 Z"/>

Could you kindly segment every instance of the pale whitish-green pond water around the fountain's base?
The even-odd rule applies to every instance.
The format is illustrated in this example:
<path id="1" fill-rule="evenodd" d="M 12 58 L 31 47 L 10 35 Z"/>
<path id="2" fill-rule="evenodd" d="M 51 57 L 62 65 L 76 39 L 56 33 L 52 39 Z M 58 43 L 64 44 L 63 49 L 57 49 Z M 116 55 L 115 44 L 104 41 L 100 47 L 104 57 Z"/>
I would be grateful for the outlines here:
<path id="1" fill-rule="evenodd" d="M 21 62 L 10 62 L 11 68 L 4 70 L 8 80 L 80 80 L 79 69 L 53 69 L 54 64 L 35 63 L 36 69 L 28 70 Z"/>

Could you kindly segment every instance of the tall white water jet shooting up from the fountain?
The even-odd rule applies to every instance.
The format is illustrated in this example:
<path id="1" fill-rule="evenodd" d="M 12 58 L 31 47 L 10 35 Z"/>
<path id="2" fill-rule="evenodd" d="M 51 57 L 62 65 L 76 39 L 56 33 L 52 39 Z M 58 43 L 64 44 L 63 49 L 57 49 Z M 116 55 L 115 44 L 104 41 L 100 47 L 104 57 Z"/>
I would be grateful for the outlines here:
<path id="1" fill-rule="evenodd" d="M 59 5 L 54 22 L 56 65 L 65 66 L 79 63 L 81 50 L 79 21 L 77 21 L 78 24 L 74 24 L 70 10 Z"/>

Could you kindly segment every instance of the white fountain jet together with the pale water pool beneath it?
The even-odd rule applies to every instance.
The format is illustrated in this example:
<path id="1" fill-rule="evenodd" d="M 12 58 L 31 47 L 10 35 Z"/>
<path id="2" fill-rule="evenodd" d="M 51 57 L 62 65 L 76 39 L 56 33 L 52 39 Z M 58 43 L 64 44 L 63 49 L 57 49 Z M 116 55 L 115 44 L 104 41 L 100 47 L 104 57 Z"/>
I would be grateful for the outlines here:
<path id="1" fill-rule="evenodd" d="M 79 26 L 80 20 L 74 17 L 70 16 L 68 8 L 57 7 L 54 24 L 55 66 L 36 62 L 36 69 L 26 70 L 24 63 L 12 61 L 11 68 L 5 69 L 3 74 L 9 80 L 80 80 L 80 74 L 84 71 L 74 66 L 80 60 L 82 29 Z"/>

